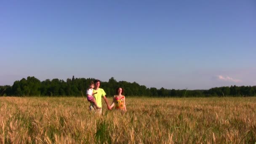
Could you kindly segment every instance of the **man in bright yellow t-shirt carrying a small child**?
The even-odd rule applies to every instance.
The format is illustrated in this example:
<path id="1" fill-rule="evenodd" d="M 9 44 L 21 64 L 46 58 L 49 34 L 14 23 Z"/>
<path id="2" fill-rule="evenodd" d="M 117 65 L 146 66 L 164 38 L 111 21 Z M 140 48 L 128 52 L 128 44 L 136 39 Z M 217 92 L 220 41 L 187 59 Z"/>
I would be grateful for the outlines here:
<path id="1" fill-rule="evenodd" d="M 100 86 L 100 81 L 99 81 L 99 80 L 94 80 L 94 85 L 95 85 L 95 86 L 94 86 L 93 93 L 95 93 L 95 94 L 93 95 L 93 97 L 95 98 L 96 103 L 97 103 L 97 105 L 98 105 L 98 107 L 99 107 L 99 109 L 96 109 L 96 110 L 98 110 L 99 113 L 101 113 L 101 112 L 102 112 L 101 97 L 103 97 L 104 101 L 106 102 L 107 108 L 108 108 L 108 109 L 110 109 L 110 108 L 109 108 L 109 104 L 108 104 L 108 102 L 107 102 L 106 93 L 105 93 L 104 89 L 99 88 L 99 86 Z M 91 103 L 90 109 L 91 109 L 91 110 L 94 110 L 94 107 L 93 107 L 93 104 L 92 104 L 92 103 Z"/>

